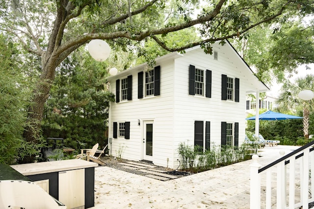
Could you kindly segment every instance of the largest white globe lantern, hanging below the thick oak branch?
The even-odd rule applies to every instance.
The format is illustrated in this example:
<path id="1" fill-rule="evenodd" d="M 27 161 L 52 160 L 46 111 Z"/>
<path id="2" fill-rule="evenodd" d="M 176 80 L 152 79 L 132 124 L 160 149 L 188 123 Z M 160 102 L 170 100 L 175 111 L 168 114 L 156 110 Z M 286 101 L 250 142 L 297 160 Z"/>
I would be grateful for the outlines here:
<path id="1" fill-rule="evenodd" d="M 88 52 L 96 61 L 105 61 L 110 54 L 110 47 L 100 39 L 94 39 L 88 44 Z"/>

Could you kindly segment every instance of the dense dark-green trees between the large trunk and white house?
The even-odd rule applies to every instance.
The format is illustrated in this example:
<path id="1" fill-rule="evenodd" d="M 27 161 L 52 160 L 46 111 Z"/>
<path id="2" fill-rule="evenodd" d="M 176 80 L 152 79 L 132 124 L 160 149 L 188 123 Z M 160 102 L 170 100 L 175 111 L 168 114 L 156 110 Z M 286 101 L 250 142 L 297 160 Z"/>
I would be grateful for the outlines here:
<path id="1" fill-rule="evenodd" d="M 105 121 L 114 101 L 105 89 L 105 66 L 87 56 L 75 52 L 58 68 L 42 125 L 45 138 L 64 138 L 64 146 L 74 149 L 80 143 L 105 146 Z"/>

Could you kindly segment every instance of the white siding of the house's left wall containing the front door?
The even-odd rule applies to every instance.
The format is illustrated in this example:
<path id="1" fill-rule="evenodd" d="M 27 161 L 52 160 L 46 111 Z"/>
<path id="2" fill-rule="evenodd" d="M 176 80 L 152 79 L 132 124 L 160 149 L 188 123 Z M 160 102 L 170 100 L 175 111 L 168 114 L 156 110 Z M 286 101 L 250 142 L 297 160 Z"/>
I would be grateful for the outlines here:
<path id="1" fill-rule="evenodd" d="M 160 95 L 137 99 L 139 71 L 132 73 L 132 101 L 111 103 L 109 138 L 112 138 L 111 155 L 118 157 L 119 146 L 123 147 L 122 158 L 142 159 L 143 121 L 153 120 L 154 163 L 166 166 L 167 158 L 173 157 L 173 59 L 160 64 Z M 145 73 L 144 73 L 145 76 Z M 120 78 L 121 79 L 121 78 Z M 110 91 L 115 94 L 115 80 L 110 83 Z M 145 94 L 144 94 L 145 95 Z M 141 125 L 138 126 L 138 120 Z M 113 122 L 130 121 L 130 139 L 112 136 Z M 118 124 L 119 127 L 119 124 Z"/>

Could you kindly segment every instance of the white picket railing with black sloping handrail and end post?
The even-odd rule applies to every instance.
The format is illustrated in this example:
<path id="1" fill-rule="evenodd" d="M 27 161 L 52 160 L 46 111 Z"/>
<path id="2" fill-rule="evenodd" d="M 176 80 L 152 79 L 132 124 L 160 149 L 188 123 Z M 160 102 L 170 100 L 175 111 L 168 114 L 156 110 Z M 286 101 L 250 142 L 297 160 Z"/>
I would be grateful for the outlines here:
<path id="1" fill-rule="evenodd" d="M 309 208 L 309 203 L 314 202 L 313 145 L 314 141 L 262 168 L 259 157 L 252 157 L 250 209 Z"/>

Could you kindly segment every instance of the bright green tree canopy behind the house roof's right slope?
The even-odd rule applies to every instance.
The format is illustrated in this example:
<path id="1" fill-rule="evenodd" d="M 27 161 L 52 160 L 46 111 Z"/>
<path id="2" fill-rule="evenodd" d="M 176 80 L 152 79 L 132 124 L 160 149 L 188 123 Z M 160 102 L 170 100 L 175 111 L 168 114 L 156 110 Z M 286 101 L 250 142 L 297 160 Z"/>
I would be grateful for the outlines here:
<path id="1" fill-rule="evenodd" d="M 282 21 L 280 24 L 263 24 L 249 30 L 247 39 L 230 40 L 256 75 L 271 84 L 273 78 L 285 81 L 286 74 L 296 72 L 302 64 L 314 62 L 314 30 L 312 23 L 302 18 Z"/>

